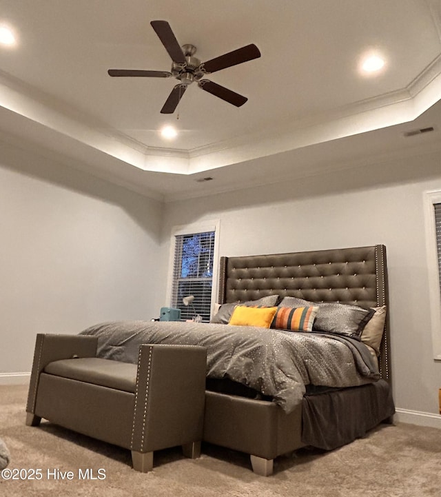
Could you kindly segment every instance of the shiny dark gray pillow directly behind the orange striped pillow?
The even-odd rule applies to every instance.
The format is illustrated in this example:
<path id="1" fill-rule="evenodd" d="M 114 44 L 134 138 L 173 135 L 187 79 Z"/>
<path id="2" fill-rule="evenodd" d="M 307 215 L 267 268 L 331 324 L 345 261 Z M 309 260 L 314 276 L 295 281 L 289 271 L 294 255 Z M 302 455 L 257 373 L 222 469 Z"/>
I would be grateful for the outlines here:
<path id="1" fill-rule="evenodd" d="M 296 297 L 285 297 L 280 303 L 280 307 L 305 307 L 308 305 L 319 307 L 312 327 L 314 331 L 336 333 L 358 339 L 375 312 L 372 309 L 363 309 L 356 305 L 335 302 L 315 303 Z"/>

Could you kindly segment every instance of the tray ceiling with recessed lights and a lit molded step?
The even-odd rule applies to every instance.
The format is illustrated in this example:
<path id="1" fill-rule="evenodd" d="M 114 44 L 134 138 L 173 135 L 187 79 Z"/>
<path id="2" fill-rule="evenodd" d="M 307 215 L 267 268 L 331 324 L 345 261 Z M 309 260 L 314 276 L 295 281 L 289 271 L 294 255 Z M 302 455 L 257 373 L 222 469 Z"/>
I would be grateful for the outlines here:
<path id="1" fill-rule="evenodd" d="M 440 142 L 438 0 L 2 0 L 0 15 L 17 38 L 0 46 L 3 146 L 158 199 Z M 209 75 L 247 103 L 190 85 L 174 114 L 160 114 L 176 79 L 110 78 L 109 68 L 170 71 L 154 19 L 203 61 L 255 43 L 259 59 Z M 367 76 L 359 66 L 369 51 L 385 65 Z M 159 133 L 166 124 L 178 130 L 173 141 Z"/>

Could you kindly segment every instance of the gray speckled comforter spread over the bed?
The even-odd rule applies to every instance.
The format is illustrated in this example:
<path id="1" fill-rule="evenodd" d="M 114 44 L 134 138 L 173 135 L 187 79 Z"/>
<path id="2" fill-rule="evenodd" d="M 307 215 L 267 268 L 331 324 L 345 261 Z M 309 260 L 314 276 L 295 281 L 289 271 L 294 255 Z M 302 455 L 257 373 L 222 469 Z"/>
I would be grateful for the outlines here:
<path id="1" fill-rule="evenodd" d="M 202 345 L 207 377 L 247 385 L 285 412 L 301 402 L 305 385 L 351 387 L 379 378 L 365 345 L 334 335 L 176 321 L 101 323 L 81 334 L 99 337 L 99 357 L 135 364 L 142 343 Z"/>

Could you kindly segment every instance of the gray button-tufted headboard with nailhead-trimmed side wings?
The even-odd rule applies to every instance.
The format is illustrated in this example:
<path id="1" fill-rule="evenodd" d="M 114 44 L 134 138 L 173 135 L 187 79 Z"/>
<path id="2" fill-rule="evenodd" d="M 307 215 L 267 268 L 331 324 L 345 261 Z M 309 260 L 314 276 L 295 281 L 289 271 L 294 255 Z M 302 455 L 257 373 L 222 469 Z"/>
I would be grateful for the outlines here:
<path id="1" fill-rule="evenodd" d="M 219 303 L 278 294 L 314 302 L 388 305 L 386 247 L 221 257 Z M 380 348 L 380 374 L 391 381 L 389 306 Z"/>

